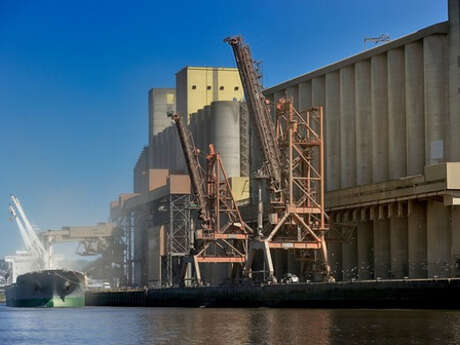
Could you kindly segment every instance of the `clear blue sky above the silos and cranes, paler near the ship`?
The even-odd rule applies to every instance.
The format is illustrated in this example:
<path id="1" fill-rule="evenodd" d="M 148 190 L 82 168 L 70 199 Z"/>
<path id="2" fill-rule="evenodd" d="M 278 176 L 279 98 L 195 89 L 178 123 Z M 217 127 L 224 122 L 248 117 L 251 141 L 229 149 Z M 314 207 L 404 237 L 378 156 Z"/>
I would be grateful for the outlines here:
<path id="1" fill-rule="evenodd" d="M 447 0 L 0 0 L 0 257 L 21 246 L 10 193 L 42 229 L 106 221 L 132 190 L 147 91 L 185 65 L 234 66 L 226 36 L 272 86 L 446 19 Z"/>

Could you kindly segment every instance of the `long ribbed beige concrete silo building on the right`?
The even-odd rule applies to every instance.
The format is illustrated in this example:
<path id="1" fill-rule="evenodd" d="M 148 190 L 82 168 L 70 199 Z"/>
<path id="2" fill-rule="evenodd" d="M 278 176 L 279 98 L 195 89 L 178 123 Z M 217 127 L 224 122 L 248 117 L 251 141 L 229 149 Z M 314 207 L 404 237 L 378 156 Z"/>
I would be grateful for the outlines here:
<path id="1" fill-rule="evenodd" d="M 326 207 L 356 229 L 329 243 L 337 278 L 460 274 L 459 61 L 449 1 L 447 22 L 265 90 L 325 107 Z"/>

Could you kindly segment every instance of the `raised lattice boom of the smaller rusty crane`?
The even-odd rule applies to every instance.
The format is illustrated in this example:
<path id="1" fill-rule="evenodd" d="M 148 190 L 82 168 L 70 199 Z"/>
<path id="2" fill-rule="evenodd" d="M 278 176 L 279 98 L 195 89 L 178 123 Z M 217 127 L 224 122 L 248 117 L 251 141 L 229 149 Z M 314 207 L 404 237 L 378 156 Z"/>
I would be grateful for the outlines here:
<path id="1" fill-rule="evenodd" d="M 184 125 L 182 116 L 177 113 L 171 113 L 168 114 L 168 116 L 171 117 L 176 123 L 177 133 L 179 134 L 182 150 L 184 151 L 185 162 L 190 173 L 192 189 L 198 199 L 200 207 L 200 218 L 206 223 L 209 221 L 210 215 L 207 203 L 206 179 L 200 169 L 200 163 L 198 159 L 199 151 L 193 143 L 193 136 L 190 132 L 190 129 Z"/>

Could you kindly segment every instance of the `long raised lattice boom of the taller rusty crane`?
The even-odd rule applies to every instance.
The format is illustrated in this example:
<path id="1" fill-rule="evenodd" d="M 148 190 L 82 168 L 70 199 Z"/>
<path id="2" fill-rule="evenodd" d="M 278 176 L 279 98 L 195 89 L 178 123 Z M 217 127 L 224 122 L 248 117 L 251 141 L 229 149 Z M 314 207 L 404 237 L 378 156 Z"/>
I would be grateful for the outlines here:
<path id="1" fill-rule="evenodd" d="M 232 46 L 249 113 L 254 117 L 254 122 L 257 125 L 265 158 L 266 175 L 270 179 L 271 188 L 278 191 L 281 185 L 281 153 L 275 135 L 275 126 L 270 116 L 267 101 L 262 94 L 262 87 L 257 78 L 251 51 L 249 46 L 243 43 L 241 36 L 227 37 L 224 41 Z"/>

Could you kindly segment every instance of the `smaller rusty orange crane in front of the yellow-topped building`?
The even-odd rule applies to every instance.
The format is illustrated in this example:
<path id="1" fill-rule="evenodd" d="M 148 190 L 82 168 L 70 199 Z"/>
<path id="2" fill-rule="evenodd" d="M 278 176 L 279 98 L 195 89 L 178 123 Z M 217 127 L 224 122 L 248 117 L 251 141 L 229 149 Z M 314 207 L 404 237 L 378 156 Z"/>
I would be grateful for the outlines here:
<path id="1" fill-rule="evenodd" d="M 199 285 L 203 283 L 200 263 L 230 263 L 235 276 L 246 263 L 252 230 L 241 218 L 220 154 L 209 145 L 204 171 L 199 162 L 199 149 L 182 116 L 169 116 L 176 124 L 199 209 L 191 254 L 196 281 Z"/>

